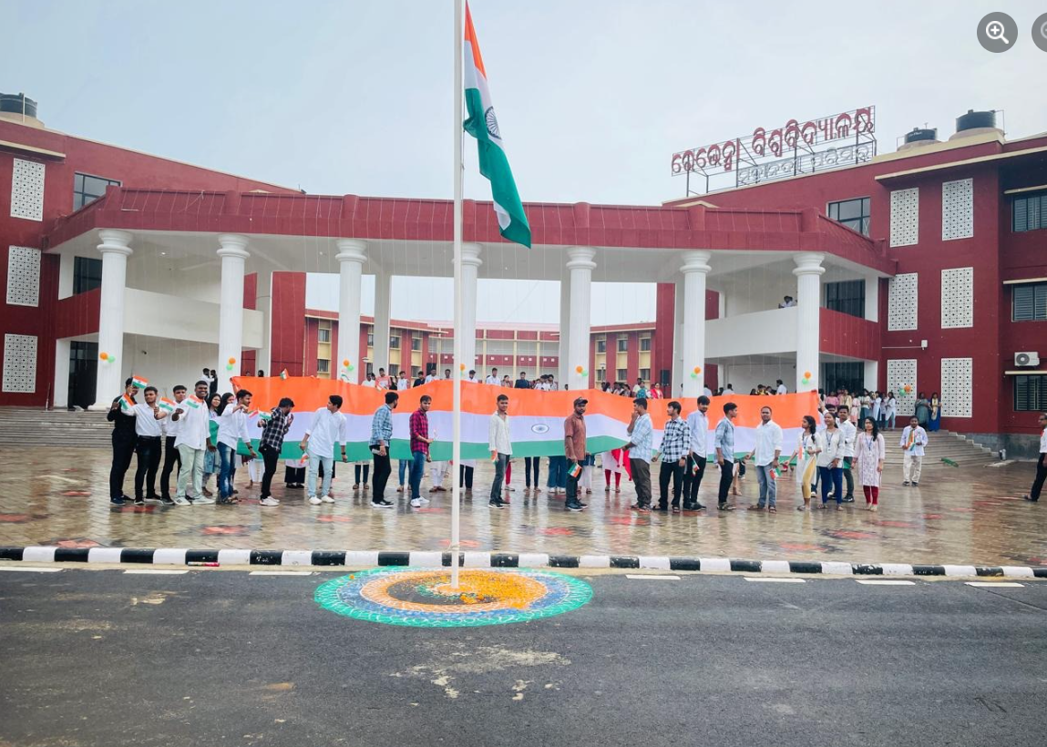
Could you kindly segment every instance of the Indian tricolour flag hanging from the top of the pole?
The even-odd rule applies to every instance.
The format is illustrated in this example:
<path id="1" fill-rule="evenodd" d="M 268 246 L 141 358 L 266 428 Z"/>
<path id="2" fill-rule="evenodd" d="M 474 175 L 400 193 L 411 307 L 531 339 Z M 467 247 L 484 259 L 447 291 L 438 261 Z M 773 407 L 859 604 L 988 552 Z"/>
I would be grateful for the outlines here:
<path id="1" fill-rule="evenodd" d="M 524 203 L 516 191 L 513 172 L 509 167 L 505 143 L 498 129 L 498 120 L 494 115 L 494 105 L 491 92 L 487 87 L 487 70 L 484 69 L 484 59 L 480 54 L 480 43 L 476 41 L 476 29 L 472 27 L 472 14 L 469 3 L 465 5 L 465 104 L 469 118 L 463 127 L 465 131 L 476 138 L 480 151 L 480 173 L 491 182 L 491 196 L 494 199 L 494 213 L 498 218 L 498 227 L 504 237 L 517 244 L 531 247 L 531 226 L 524 213 Z"/>

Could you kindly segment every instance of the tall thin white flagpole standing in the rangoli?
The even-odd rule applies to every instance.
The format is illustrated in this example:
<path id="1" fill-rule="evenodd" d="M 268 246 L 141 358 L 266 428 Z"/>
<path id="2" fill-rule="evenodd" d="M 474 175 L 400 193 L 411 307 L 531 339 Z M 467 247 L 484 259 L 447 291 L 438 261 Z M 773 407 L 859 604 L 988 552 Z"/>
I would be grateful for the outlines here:
<path id="1" fill-rule="evenodd" d="M 462 46 L 465 37 L 462 2 L 454 2 L 454 344 L 451 408 L 451 589 L 459 588 L 462 474 Z M 472 361 L 469 361 L 470 365 Z"/>

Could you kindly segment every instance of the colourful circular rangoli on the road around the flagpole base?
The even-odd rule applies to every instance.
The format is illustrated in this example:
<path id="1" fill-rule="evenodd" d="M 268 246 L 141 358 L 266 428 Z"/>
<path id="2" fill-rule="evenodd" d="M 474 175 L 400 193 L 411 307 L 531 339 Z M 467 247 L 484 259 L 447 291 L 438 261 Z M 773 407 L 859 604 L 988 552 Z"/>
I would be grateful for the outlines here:
<path id="1" fill-rule="evenodd" d="M 314 599 L 347 617 L 415 628 L 469 628 L 551 617 L 578 609 L 593 597 L 580 579 L 517 568 L 462 569 L 459 588 L 451 571 L 375 568 L 320 584 Z"/>

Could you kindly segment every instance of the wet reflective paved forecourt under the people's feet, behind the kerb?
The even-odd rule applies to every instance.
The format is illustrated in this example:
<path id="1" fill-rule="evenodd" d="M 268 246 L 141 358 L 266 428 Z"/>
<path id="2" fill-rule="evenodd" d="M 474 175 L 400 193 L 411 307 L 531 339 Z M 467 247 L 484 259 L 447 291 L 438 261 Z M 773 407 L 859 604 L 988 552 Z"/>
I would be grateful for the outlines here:
<path id="1" fill-rule="evenodd" d="M 522 462 L 522 460 L 519 460 Z M 636 494 L 623 477 L 621 493 L 604 491 L 603 471 L 594 474 L 589 507 L 563 510 L 563 498 L 542 485 L 537 496 L 522 484 L 522 463 L 514 466 L 511 505 L 487 505 L 493 477 L 489 465 L 476 469 L 474 495 L 462 510 L 465 550 L 535 551 L 564 554 L 658 554 L 758 560 L 839 560 L 854 563 L 945 563 L 1047 565 L 1047 504 L 1021 499 L 1032 479 L 1031 462 L 1002 467 L 932 466 L 918 488 L 901 485 L 900 469 L 885 468 L 879 512 L 857 503 L 843 512 L 797 512 L 802 503 L 792 476 L 779 483 L 779 512 L 750 512 L 756 502 L 755 474 L 741 481 L 733 500 L 738 510 L 698 514 L 629 511 Z M 548 461 L 542 460 L 541 478 Z M 126 490 L 133 492 L 133 466 Z M 658 495 L 655 467 L 655 500 Z M 424 508 L 407 505 L 393 484 L 386 497 L 395 510 L 371 508 L 371 493 L 352 490 L 352 466 L 339 465 L 336 502 L 312 506 L 302 490 L 274 482 L 279 507 L 258 504 L 258 486 L 247 488 L 246 469 L 237 471 L 242 502 L 235 506 L 159 504 L 111 507 L 109 452 L 95 449 L 0 448 L 0 546 L 185 547 L 354 550 L 446 549 L 450 533 L 449 493 L 423 493 Z M 708 471 L 699 499 L 715 505 L 718 473 Z M 283 466 L 277 480 L 283 479 Z M 448 479 L 445 481 L 449 485 Z M 211 481 L 214 485 L 214 480 Z"/>

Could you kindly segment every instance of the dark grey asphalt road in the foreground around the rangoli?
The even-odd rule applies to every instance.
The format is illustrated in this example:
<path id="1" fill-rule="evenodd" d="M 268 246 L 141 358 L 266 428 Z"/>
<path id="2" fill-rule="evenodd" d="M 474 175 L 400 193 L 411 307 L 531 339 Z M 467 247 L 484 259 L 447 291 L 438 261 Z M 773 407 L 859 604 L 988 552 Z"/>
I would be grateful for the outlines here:
<path id="1" fill-rule="evenodd" d="M 0 747 L 1020 745 L 1047 583 L 589 579 L 529 624 L 317 607 L 332 578 L 0 573 Z"/>

